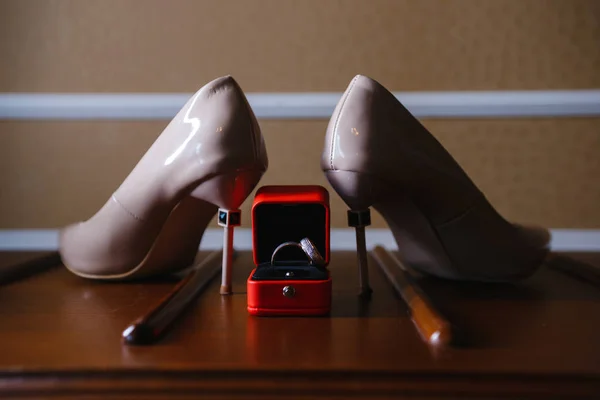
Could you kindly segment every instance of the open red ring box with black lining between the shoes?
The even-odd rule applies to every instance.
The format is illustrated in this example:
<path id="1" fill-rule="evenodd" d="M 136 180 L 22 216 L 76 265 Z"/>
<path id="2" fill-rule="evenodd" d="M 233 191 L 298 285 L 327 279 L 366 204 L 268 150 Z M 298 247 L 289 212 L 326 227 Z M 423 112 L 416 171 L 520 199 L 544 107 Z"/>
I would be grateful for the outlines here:
<path id="1" fill-rule="evenodd" d="M 326 268 L 330 256 L 329 219 L 329 193 L 322 186 L 263 186 L 256 192 L 252 204 L 252 251 L 256 268 L 247 280 L 251 315 L 329 313 L 331 275 Z M 293 246 L 279 251 L 275 266 L 271 265 L 277 246 L 305 237 L 319 250 L 325 266 L 310 265 L 304 252 Z M 288 277 L 290 272 L 293 277 Z"/>

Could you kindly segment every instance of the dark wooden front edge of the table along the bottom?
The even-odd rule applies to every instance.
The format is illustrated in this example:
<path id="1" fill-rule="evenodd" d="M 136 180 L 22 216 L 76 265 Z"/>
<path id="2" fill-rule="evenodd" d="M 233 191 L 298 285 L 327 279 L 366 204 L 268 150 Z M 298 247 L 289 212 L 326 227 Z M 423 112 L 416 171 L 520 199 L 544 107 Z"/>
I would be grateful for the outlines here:
<path id="1" fill-rule="evenodd" d="M 467 385 L 468 390 L 465 389 Z M 126 394 L 281 396 L 590 396 L 600 374 L 379 370 L 90 369 L 0 371 L 0 397 Z"/>

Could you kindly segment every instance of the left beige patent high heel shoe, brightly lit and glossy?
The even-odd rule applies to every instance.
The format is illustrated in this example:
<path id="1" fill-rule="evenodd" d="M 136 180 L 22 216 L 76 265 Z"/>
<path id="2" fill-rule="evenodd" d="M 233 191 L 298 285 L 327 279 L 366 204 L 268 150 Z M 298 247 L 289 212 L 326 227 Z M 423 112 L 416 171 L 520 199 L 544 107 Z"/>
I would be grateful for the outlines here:
<path id="1" fill-rule="evenodd" d="M 267 169 L 250 105 L 231 77 L 201 88 L 89 220 L 64 228 L 60 254 L 73 273 L 120 280 L 191 264 L 219 210 L 225 226 L 222 292 L 231 291 L 237 210 Z"/>

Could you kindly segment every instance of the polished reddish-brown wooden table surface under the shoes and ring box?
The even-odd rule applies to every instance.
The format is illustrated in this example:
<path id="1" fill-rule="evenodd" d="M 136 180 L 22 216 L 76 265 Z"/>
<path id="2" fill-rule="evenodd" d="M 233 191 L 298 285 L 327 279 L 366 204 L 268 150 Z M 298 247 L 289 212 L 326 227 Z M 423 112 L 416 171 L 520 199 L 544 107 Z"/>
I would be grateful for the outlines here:
<path id="1" fill-rule="evenodd" d="M 0 253 L 0 271 L 40 256 Z M 600 265 L 600 254 L 569 256 Z M 121 332 L 174 279 L 102 283 L 59 265 L 0 284 L 0 397 L 600 394 L 600 287 L 558 270 L 518 284 L 419 280 L 461 335 L 458 345 L 432 348 L 375 262 L 365 301 L 356 296 L 355 254 L 332 254 L 330 318 L 250 317 L 251 269 L 251 254 L 242 253 L 235 294 L 219 295 L 213 281 L 150 347 L 123 345 Z"/>

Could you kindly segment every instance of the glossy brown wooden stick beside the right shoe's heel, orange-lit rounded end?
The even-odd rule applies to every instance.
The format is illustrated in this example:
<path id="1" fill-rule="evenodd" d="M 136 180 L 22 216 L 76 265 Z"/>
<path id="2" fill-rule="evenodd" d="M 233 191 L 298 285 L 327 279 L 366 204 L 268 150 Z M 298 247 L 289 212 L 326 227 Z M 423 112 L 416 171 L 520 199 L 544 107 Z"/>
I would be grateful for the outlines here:
<path id="1" fill-rule="evenodd" d="M 431 301 L 392 253 L 381 246 L 371 252 L 396 292 L 410 311 L 419 334 L 431 345 L 447 345 L 452 341 L 452 327 L 435 309 Z"/>

